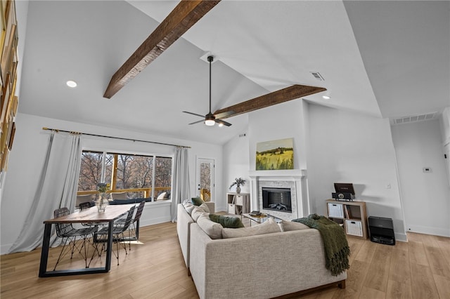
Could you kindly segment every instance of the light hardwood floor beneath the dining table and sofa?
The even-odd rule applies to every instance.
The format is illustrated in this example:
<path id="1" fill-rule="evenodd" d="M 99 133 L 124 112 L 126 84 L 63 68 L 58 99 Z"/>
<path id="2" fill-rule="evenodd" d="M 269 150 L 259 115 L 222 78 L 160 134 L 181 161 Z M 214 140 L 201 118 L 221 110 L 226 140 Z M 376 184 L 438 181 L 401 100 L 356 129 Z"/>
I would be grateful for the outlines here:
<path id="1" fill-rule="evenodd" d="M 349 237 L 347 288 L 326 288 L 293 298 L 450 298 L 450 238 L 413 233 L 408 237 L 408 243 L 395 246 Z M 39 278 L 39 248 L 1 255 L 0 297 L 198 298 L 174 223 L 141 227 L 140 241 L 143 244 L 131 245 L 128 255 L 121 249 L 119 266 L 113 256 L 106 274 Z M 60 248 L 51 248 L 49 265 L 59 252 Z M 83 266 L 84 260 L 63 263 L 68 265 Z"/>

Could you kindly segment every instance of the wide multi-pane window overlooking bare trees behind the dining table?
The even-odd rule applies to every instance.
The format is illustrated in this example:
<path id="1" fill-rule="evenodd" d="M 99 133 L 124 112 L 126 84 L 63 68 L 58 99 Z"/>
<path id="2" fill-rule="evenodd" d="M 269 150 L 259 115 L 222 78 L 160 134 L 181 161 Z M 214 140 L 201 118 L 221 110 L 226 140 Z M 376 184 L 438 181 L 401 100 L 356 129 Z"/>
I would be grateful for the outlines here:
<path id="1" fill-rule="evenodd" d="M 83 151 L 78 195 L 95 194 L 99 182 L 109 182 L 109 192 L 127 192 L 127 198 L 154 201 L 172 191 L 172 157 Z"/>

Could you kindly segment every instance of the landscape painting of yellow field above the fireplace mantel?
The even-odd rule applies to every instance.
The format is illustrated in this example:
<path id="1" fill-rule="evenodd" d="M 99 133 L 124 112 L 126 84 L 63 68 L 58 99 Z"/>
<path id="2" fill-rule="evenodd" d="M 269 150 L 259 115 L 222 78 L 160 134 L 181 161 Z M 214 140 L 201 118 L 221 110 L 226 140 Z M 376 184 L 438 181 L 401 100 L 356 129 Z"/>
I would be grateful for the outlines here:
<path id="1" fill-rule="evenodd" d="M 293 138 L 258 142 L 256 170 L 294 169 Z"/>

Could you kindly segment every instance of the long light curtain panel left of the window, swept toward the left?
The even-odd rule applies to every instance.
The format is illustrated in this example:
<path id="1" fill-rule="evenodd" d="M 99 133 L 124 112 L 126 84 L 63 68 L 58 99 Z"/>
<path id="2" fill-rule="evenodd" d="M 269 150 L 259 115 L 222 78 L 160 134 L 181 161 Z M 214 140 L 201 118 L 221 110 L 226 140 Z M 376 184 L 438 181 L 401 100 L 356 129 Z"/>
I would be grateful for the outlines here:
<path id="1" fill-rule="evenodd" d="M 53 218 L 53 211 L 57 208 L 68 207 L 70 211 L 74 210 L 81 155 L 80 135 L 51 132 L 32 206 L 9 253 L 32 251 L 41 246 L 44 220 Z M 56 246 L 59 243 L 53 227 L 51 244 Z"/>

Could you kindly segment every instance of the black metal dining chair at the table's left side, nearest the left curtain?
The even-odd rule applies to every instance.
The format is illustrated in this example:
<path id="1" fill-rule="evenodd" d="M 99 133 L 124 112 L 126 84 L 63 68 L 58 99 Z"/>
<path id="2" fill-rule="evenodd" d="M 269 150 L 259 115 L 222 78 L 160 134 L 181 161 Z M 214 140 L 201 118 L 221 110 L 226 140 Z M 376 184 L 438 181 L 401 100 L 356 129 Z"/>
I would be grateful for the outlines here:
<path id="1" fill-rule="evenodd" d="M 53 211 L 53 215 L 55 218 L 59 218 L 65 215 L 69 215 L 70 211 L 68 208 L 57 208 Z M 94 233 L 98 230 L 97 227 L 85 227 L 76 229 L 72 226 L 72 223 L 56 223 L 56 234 L 58 237 L 63 238 L 64 244 L 63 249 L 61 250 L 58 260 L 56 260 L 56 265 L 53 268 L 53 271 L 56 270 L 56 266 L 60 262 L 61 258 L 63 258 L 70 251 L 70 258 L 73 258 L 73 253 L 75 249 L 78 250 L 79 254 L 84 258 L 84 263 L 86 268 L 89 268 L 91 264 L 92 258 L 94 258 L 94 252 L 92 253 L 91 260 L 89 264 L 87 263 L 88 254 L 89 254 L 89 237 L 94 237 Z M 77 237 L 80 239 L 77 240 Z M 78 241 L 82 241 L 81 247 L 79 246 Z M 87 244 L 86 244 L 87 243 Z M 91 244 L 96 249 L 94 244 Z"/>

